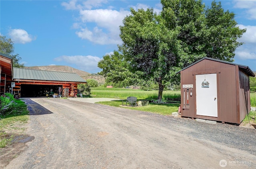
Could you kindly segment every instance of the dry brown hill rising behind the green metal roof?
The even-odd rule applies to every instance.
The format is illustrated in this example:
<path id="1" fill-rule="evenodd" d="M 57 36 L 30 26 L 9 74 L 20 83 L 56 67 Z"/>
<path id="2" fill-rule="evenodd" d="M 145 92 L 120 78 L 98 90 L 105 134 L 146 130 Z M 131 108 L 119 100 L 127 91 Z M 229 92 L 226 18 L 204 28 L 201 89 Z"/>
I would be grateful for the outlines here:
<path id="1" fill-rule="evenodd" d="M 26 69 L 36 69 L 42 71 L 56 71 L 56 72 L 67 72 L 67 73 L 76 73 L 79 76 L 87 76 L 91 75 L 88 72 L 80 71 L 70 66 L 32 66 L 32 67 L 25 67 Z"/>

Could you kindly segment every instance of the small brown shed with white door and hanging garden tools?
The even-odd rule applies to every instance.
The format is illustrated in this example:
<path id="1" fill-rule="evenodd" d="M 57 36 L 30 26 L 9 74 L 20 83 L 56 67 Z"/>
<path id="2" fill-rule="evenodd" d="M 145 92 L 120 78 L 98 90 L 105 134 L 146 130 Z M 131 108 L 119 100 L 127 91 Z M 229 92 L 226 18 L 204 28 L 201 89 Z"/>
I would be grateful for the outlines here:
<path id="1" fill-rule="evenodd" d="M 178 73 L 181 116 L 240 124 L 250 112 L 248 66 L 205 57 Z"/>

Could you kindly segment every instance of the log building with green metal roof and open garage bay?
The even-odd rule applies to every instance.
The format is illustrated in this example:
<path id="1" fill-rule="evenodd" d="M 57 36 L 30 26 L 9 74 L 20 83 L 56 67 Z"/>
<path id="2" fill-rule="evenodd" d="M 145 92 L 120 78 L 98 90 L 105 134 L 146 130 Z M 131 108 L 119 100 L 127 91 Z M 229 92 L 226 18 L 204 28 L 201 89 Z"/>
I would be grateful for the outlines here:
<path id="1" fill-rule="evenodd" d="M 76 97 L 77 85 L 86 81 L 76 73 L 13 68 L 12 57 L 1 56 L 1 94 L 12 92 L 16 97 Z"/>

